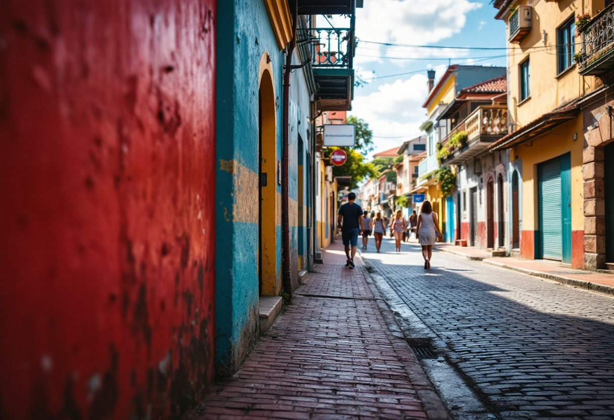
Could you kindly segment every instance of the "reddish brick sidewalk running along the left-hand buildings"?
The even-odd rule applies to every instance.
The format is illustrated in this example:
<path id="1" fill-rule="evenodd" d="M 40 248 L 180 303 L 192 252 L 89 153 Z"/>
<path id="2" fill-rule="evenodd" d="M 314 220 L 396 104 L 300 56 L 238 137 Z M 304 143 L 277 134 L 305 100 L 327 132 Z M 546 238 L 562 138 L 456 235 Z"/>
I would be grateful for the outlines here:
<path id="1" fill-rule="evenodd" d="M 335 243 L 323 260 L 193 420 L 448 419 L 359 255 L 349 270 Z"/>

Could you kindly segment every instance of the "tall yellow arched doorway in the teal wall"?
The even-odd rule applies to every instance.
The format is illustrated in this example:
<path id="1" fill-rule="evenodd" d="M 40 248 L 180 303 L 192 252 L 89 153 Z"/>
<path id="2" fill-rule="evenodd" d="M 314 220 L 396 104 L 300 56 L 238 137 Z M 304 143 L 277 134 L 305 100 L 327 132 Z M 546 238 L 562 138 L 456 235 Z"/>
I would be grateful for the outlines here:
<path id="1" fill-rule="evenodd" d="M 258 89 L 258 286 L 260 295 L 279 295 L 277 281 L 277 198 L 275 92 L 273 76 L 264 69 Z"/>

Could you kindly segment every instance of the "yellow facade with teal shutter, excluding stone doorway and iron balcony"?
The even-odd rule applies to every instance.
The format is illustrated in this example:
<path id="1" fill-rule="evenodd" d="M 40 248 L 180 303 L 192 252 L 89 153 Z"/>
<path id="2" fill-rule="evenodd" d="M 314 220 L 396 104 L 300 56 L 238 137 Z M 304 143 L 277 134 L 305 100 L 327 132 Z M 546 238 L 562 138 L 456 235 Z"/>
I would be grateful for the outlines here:
<path id="1" fill-rule="evenodd" d="M 495 2 L 507 23 L 510 134 L 491 150 L 510 150 L 510 220 L 525 259 L 584 266 L 583 117 L 580 99 L 595 78 L 580 76 L 578 15 L 604 0 Z"/>

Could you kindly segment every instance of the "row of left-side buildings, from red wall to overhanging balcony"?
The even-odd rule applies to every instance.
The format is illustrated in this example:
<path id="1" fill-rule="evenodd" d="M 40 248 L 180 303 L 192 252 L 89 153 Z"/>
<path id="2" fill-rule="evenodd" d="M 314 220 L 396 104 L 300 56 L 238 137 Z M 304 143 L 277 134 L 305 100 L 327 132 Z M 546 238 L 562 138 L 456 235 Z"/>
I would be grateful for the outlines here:
<path id="1" fill-rule="evenodd" d="M 330 241 L 356 7 L 2 3 L 0 418 L 181 418 L 236 371 Z"/>

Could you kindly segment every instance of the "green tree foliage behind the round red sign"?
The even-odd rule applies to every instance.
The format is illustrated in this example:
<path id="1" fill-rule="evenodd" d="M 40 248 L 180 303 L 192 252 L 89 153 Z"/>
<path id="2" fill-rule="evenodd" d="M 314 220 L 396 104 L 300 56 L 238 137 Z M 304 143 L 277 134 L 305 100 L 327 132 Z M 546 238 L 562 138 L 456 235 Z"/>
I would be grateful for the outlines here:
<path id="1" fill-rule="evenodd" d="M 373 150 L 373 131 L 369 130 L 369 125 L 365 120 L 351 115 L 346 120 L 348 124 L 356 125 L 356 146 L 354 147 L 326 147 L 324 157 L 328 158 L 333 150 L 343 149 L 348 155 L 348 160 L 341 166 L 333 167 L 333 176 L 351 176 L 349 188 L 355 189 L 365 177 L 378 177 L 372 163 L 365 163 L 364 154 Z"/>

